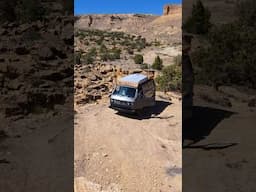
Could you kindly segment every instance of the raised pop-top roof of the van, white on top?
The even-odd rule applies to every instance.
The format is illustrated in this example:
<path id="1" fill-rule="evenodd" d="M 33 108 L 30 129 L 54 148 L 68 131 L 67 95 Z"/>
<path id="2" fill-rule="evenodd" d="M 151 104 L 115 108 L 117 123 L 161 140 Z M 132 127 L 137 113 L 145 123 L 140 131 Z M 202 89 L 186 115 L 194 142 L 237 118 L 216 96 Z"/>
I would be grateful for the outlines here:
<path id="1" fill-rule="evenodd" d="M 131 74 L 127 75 L 119 80 L 121 86 L 138 87 L 139 84 L 144 83 L 148 80 L 148 77 L 143 74 Z"/>

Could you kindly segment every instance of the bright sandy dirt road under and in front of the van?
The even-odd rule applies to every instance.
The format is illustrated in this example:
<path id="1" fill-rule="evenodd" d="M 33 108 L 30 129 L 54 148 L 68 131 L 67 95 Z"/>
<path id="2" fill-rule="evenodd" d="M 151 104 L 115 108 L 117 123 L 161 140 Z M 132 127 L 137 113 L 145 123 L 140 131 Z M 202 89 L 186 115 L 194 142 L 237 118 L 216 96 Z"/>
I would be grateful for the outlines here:
<path id="1" fill-rule="evenodd" d="M 181 101 L 157 100 L 139 118 L 107 99 L 77 109 L 76 192 L 181 191 Z"/>

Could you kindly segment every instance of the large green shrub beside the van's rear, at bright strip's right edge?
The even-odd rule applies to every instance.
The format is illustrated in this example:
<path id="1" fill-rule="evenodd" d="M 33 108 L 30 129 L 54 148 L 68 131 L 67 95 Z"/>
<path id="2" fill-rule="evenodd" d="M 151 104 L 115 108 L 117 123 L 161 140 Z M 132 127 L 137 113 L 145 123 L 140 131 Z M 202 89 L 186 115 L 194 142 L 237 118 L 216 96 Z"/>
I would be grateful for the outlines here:
<path id="1" fill-rule="evenodd" d="M 162 75 L 156 78 L 157 87 L 161 91 L 181 91 L 182 72 L 180 65 L 164 67 Z"/>

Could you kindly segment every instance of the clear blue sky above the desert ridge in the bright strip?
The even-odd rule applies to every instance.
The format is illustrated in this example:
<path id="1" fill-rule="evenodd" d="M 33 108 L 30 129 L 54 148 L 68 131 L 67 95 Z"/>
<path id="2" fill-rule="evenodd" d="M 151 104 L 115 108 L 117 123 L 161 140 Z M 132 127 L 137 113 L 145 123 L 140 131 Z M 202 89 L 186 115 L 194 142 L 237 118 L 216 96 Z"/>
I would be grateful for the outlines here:
<path id="1" fill-rule="evenodd" d="M 75 0 L 75 14 L 146 13 L 161 15 L 163 6 L 181 0 Z"/>

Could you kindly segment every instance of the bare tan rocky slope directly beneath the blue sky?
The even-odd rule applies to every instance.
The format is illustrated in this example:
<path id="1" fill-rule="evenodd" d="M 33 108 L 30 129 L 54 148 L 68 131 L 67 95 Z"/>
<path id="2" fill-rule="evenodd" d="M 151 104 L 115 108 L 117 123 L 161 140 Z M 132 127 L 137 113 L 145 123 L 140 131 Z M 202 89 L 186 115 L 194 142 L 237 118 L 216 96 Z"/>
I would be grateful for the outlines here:
<path id="1" fill-rule="evenodd" d="M 165 44 L 180 43 L 181 8 L 172 9 L 163 16 L 143 14 L 95 14 L 77 16 L 76 29 L 122 31 L 155 39 Z"/>

